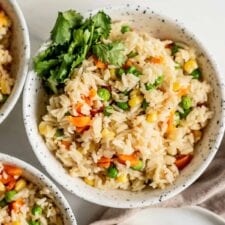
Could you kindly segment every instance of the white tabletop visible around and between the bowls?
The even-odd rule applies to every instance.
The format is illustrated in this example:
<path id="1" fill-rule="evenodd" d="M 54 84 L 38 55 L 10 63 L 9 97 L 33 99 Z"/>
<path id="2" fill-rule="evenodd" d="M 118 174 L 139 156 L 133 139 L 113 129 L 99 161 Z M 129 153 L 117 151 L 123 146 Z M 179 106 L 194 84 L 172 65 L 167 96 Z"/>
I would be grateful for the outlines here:
<path id="1" fill-rule="evenodd" d="M 110 0 L 18 0 L 25 14 L 31 38 L 32 54 L 48 37 L 58 11 L 74 8 L 84 12 L 87 8 L 99 8 Z M 225 1 L 224 0 L 112 0 L 114 5 L 121 2 L 144 3 L 153 10 L 173 16 L 191 29 L 205 45 L 225 72 Z M 0 126 L 1 152 L 21 158 L 45 172 L 40 166 L 28 143 L 23 119 L 22 100 Z M 61 188 L 69 200 L 79 225 L 87 225 L 105 210 L 104 207 L 88 203 Z"/>

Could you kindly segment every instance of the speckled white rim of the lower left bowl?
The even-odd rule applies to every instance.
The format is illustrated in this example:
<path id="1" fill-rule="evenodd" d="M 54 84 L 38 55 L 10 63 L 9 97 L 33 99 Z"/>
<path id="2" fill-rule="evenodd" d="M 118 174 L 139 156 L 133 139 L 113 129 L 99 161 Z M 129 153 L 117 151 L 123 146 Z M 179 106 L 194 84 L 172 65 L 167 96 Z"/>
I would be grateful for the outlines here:
<path id="1" fill-rule="evenodd" d="M 31 164 L 16 158 L 14 156 L 5 154 L 5 153 L 0 153 L 0 162 L 7 162 L 12 165 L 19 166 L 22 169 L 25 169 L 30 173 L 32 176 L 36 178 L 41 178 L 39 179 L 40 183 L 42 183 L 44 186 L 48 186 L 51 189 L 51 192 L 54 193 L 54 197 L 56 198 L 57 196 L 57 201 L 65 208 L 65 212 L 67 214 L 68 221 L 71 223 L 71 225 L 77 225 L 75 215 L 73 214 L 73 211 L 66 199 L 66 197 L 63 195 L 62 191 L 59 190 L 59 188 L 55 185 L 55 183 L 50 180 L 44 173 L 42 173 L 40 170 L 32 166 Z M 31 181 L 32 182 L 32 181 Z M 54 198 L 54 199 L 55 199 Z"/>

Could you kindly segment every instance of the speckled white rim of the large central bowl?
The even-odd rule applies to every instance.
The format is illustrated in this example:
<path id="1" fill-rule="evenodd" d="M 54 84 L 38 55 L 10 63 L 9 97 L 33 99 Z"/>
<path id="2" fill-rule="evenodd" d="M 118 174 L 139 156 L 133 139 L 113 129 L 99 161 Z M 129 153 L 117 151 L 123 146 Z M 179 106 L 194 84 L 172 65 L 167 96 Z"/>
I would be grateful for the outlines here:
<path id="1" fill-rule="evenodd" d="M 129 6 L 129 8 L 128 8 Z M 120 6 L 111 6 L 110 4 L 108 6 L 105 7 L 101 7 L 101 8 L 95 8 L 95 9 L 88 9 L 85 11 L 85 13 L 82 13 L 82 15 L 84 15 L 84 17 L 86 17 L 87 15 L 89 15 L 90 13 L 96 13 L 98 11 L 101 10 L 116 10 L 116 9 L 127 9 L 129 11 L 136 11 L 136 8 L 139 8 L 140 10 L 145 10 L 146 7 L 149 9 L 149 6 L 146 6 L 145 4 L 129 4 L 129 3 L 122 3 Z M 164 14 L 162 14 L 160 11 L 157 11 L 153 8 L 151 8 L 151 11 L 154 12 L 155 16 L 161 17 L 163 19 L 165 19 L 166 21 L 168 21 L 169 23 L 175 24 L 179 27 L 179 29 L 184 29 L 185 33 L 188 34 L 188 36 L 193 37 L 194 41 L 196 42 L 196 44 L 199 46 L 200 49 L 202 49 L 205 52 L 205 55 L 207 56 L 207 59 L 210 60 L 211 65 L 213 67 L 213 70 L 215 71 L 215 74 L 218 77 L 219 80 L 219 87 L 220 87 L 220 92 L 221 92 L 221 99 L 223 100 L 223 102 L 225 102 L 225 79 L 223 78 L 223 76 L 221 75 L 222 73 L 219 70 L 219 67 L 217 66 L 217 63 L 215 62 L 214 58 L 212 57 L 212 54 L 209 53 L 207 47 L 205 47 L 205 44 L 203 44 L 200 39 L 194 35 L 189 28 L 186 28 L 186 26 L 180 21 L 177 20 L 171 16 L 166 16 Z M 140 13 L 140 12 L 139 12 Z M 146 13 L 147 14 L 147 13 Z M 40 49 L 38 51 L 41 50 L 41 48 L 46 45 L 47 42 L 42 43 Z M 37 52 L 38 52 L 37 51 Z M 31 70 L 29 71 L 29 73 L 35 73 L 33 71 L 33 68 L 31 68 Z M 161 203 L 162 201 L 166 201 L 168 199 L 171 199 L 172 197 L 178 195 L 179 193 L 181 193 L 182 191 L 184 191 L 186 188 L 188 188 L 191 184 L 193 184 L 202 174 L 203 172 L 206 170 L 206 168 L 209 166 L 209 164 L 211 163 L 211 161 L 213 160 L 215 154 L 217 153 L 219 146 L 221 144 L 222 138 L 223 138 L 223 134 L 225 131 L 225 126 L 220 126 L 219 130 L 218 130 L 218 135 L 215 138 L 214 141 L 214 145 L 212 147 L 212 151 L 209 152 L 206 160 L 204 161 L 204 163 L 202 163 L 198 169 L 196 171 L 194 171 L 192 173 L 192 175 L 187 179 L 187 181 L 185 182 L 185 186 L 180 184 L 177 185 L 176 188 L 174 188 L 172 191 L 170 191 L 170 193 L 168 193 L 165 197 L 160 198 L 158 197 L 153 197 L 150 199 L 145 200 L 144 202 L 139 201 L 139 200 L 130 200 L 130 201 L 121 201 L 118 203 L 116 203 L 115 201 L 109 201 L 109 199 L 105 198 L 104 200 L 101 198 L 97 198 L 97 197 L 92 197 L 90 195 L 88 195 L 86 192 L 81 192 L 77 189 L 73 189 L 72 187 L 70 188 L 69 186 L 71 185 L 67 185 L 64 182 L 62 182 L 62 180 L 53 172 L 53 170 L 49 169 L 49 167 L 47 167 L 46 165 L 44 165 L 43 161 L 42 161 L 42 156 L 41 154 L 39 154 L 37 146 L 34 144 L 34 142 L 31 140 L 31 138 L 29 137 L 29 126 L 26 123 L 26 104 L 27 104 L 27 96 L 26 96 L 26 86 L 28 87 L 29 84 L 29 74 L 27 77 L 27 82 L 25 85 L 25 91 L 23 93 L 23 116 L 24 116 L 24 123 L 25 123 L 25 128 L 26 128 L 26 133 L 29 139 L 29 142 L 32 146 L 32 149 L 36 155 L 36 157 L 38 158 L 39 162 L 41 163 L 41 165 L 45 168 L 45 170 L 49 173 L 49 175 L 55 180 L 57 181 L 60 185 L 62 185 L 65 189 L 67 189 L 68 191 L 70 191 L 71 193 L 77 195 L 78 197 L 87 200 L 89 202 L 98 204 L 98 205 L 102 205 L 102 206 L 107 206 L 107 207 L 112 207 L 112 208 L 140 208 L 140 207 L 147 207 L 150 205 L 156 205 Z M 221 124 L 225 124 L 225 107 L 221 107 L 222 111 L 220 113 L 220 123 Z M 46 147 L 47 148 L 47 147 Z M 96 188 L 97 189 L 97 188 Z M 99 189 L 98 189 L 99 190 Z"/>

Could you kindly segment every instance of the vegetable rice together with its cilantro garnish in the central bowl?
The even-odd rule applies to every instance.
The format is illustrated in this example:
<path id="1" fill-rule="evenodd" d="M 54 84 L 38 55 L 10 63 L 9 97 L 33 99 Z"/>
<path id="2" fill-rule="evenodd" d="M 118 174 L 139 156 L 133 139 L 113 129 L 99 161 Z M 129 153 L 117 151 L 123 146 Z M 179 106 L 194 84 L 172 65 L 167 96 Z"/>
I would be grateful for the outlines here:
<path id="1" fill-rule="evenodd" d="M 86 20 L 59 13 L 34 64 L 52 94 L 40 134 L 71 176 L 91 186 L 172 184 L 212 116 L 192 48 L 104 12 Z"/>

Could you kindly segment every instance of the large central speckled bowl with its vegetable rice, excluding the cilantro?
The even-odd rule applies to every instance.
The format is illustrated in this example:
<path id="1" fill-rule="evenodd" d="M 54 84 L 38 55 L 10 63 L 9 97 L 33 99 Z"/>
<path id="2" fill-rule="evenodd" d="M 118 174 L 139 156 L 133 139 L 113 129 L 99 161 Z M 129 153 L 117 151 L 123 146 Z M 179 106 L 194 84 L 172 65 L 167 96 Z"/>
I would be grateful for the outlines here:
<path id="1" fill-rule="evenodd" d="M 187 188 L 213 159 L 224 131 L 222 78 L 178 22 L 146 7 L 103 11 L 112 24 L 102 46 L 121 43 L 124 62 L 113 63 L 123 61 L 118 51 L 103 63 L 95 46 L 50 96 L 30 71 L 27 134 L 42 165 L 72 193 L 111 207 L 156 204 Z"/>

